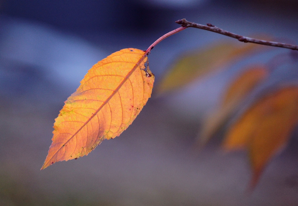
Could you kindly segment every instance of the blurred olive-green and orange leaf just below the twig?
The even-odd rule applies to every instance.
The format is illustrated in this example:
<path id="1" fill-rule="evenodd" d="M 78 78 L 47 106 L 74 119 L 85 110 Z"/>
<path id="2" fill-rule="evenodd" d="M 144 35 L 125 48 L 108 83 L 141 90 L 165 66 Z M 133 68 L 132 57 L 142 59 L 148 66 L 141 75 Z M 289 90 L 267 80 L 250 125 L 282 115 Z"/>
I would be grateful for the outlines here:
<path id="1" fill-rule="evenodd" d="M 267 37 L 268 39 L 268 37 Z M 161 80 L 157 93 L 179 89 L 210 72 L 219 71 L 233 62 L 259 52 L 264 46 L 248 43 L 220 42 L 190 53 L 178 60 Z"/>

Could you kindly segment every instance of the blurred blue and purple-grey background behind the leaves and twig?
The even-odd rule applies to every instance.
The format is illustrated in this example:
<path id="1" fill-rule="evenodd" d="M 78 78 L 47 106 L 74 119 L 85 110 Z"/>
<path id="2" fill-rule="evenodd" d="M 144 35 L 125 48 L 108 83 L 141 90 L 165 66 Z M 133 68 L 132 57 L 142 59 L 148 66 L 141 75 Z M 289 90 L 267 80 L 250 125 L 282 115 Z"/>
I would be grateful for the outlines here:
<path id="1" fill-rule="evenodd" d="M 237 61 L 228 57 L 232 63 L 214 66 L 209 75 L 158 92 L 179 59 L 219 42 L 244 44 L 195 28 L 152 50 L 152 98 L 120 137 L 40 171 L 54 119 L 88 69 L 122 48 L 147 49 L 182 18 L 298 43 L 295 0 L 0 1 L 0 205 L 298 204 L 297 128 L 252 192 L 247 152 L 221 149 L 221 128 L 229 123 L 218 126 L 204 149 L 196 147 L 235 75 L 251 64 L 271 72 L 223 122 L 233 122 L 274 85 L 296 85 L 296 53 L 266 46 L 239 53 Z"/>

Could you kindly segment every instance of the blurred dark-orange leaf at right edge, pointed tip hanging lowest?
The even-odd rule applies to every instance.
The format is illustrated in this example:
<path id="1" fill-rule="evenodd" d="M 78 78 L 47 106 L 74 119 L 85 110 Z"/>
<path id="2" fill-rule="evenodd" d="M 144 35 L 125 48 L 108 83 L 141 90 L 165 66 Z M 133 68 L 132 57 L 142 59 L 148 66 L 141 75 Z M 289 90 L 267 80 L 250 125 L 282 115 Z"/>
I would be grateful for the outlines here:
<path id="1" fill-rule="evenodd" d="M 254 187 L 265 166 L 284 149 L 291 132 L 298 123 L 298 88 L 280 89 L 267 97 L 267 111 L 248 142 L 248 151 L 253 169 L 251 187 Z M 261 106 L 261 105 L 260 105 Z"/>

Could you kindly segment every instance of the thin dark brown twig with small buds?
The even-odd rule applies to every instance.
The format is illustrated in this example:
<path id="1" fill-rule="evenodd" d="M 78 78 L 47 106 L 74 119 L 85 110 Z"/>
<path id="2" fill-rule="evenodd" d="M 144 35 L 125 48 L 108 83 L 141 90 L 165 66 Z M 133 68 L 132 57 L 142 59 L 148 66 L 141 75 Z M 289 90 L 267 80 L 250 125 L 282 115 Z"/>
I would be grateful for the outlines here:
<path id="1" fill-rule="evenodd" d="M 246 42 L 258 43 L 258 44 L 263 44 L 263 45 L 268 45 L 268 46 L 273 46 L 273 47 L 282 47 L 282 48 L 288 48 L 288 49 L 292 49 L 292 50 L 298 50 L 297 45 L 287 44 L 287 43 L 279 43 L 279 42 L 271 42 L 271 41 L 265 41 L 265 40 L 260 40 L 260 39 L 253 39 L 253 38 L 241 36 L 239 34 L 234 34 L 232 32 L 220 29 L 212 24 L 207 24 L 207 26 L 205 26 L 205 25 L 201 25 L 201 24 L 192 23 L 190 21 L 187 21 L 186 19 L 178 20 L 178 21 L 176 21 L 176 23 L 181 24 L 181 26 L 183 26 L 183 27 L 194 27 L 194 28 L 198 28 L 198 29 L 203 29 L 203 30 L 208 30 L 208 31 L 212 31 L 215 33 L 223 34 L 223 35 L 238 39 L 239 41 L 245 42 L 245 43 Z"/>

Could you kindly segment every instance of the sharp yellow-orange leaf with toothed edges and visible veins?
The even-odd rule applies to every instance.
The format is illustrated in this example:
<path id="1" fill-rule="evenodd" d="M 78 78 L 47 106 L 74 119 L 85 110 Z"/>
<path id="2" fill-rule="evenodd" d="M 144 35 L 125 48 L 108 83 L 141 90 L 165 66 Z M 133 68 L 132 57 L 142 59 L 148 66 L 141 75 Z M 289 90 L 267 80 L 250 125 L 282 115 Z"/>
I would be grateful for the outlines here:
<path id="1" fill-rule="evenodd" d="M 87 155 L 133 122 L 153 88 L 154 75 L 147 61 L 146 52 L 127 48 L 88 71 L 55 119 L 53 142 L 41 169 Z"/>

